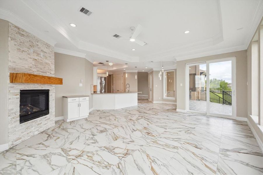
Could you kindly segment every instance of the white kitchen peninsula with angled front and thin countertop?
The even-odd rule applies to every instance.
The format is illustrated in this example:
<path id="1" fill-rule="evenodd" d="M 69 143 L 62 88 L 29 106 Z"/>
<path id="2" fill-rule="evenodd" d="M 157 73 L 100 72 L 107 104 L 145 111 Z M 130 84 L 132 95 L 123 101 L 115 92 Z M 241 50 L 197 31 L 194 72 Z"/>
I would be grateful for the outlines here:
<path id="1" fill-rule="evenodd" d="M 142 92 L 92 93 L 93 109 L 120 109 L 137 106 L 138 93 Z"/>

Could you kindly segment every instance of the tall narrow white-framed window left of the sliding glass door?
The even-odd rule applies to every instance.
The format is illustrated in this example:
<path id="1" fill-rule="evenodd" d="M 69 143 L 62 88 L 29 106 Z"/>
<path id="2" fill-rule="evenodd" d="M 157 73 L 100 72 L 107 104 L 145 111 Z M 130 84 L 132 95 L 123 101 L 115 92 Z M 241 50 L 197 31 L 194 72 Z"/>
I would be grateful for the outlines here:
<path id="1" fill-rule="evenodd" d="M 164 71 L 163 77 L 163 98 L 175 99 L 175 71 Z"/>

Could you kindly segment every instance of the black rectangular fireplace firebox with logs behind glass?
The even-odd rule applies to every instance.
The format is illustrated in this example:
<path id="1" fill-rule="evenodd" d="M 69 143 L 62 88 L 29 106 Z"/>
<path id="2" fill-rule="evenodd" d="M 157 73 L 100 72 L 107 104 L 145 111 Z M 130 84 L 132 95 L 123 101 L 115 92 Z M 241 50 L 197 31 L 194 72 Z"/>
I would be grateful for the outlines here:
<path id="1" fill-rule="evenodd" d="M 20 90 L 20 123 L 49 114 L 49 89 Z"/>

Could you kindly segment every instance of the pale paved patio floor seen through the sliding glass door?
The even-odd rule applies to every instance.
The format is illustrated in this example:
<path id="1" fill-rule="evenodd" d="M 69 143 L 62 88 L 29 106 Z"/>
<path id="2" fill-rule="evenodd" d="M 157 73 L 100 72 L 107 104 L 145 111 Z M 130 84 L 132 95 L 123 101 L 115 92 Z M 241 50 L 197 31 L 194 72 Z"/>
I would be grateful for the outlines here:
<path id="1" fill-rule="evenodd" d="M 209 101 L 210 113 L 232 115 L 232 106 L 226 104 L 213 103 Z M 189 100 L 189 109 L 206 113 L 206 101 L 202 100 Z"/>

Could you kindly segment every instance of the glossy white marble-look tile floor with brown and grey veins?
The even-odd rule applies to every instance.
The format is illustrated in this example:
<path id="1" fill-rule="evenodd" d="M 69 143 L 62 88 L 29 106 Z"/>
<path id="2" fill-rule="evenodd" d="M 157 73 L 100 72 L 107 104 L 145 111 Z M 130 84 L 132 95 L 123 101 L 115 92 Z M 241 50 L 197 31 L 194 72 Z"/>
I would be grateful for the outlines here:
<path id="1" fill-rule="evenodd" d="M 263 174 L 246 122 L 176 112 L 173 104 L 94 110 L 0 154 L 1 174 Z"/>

